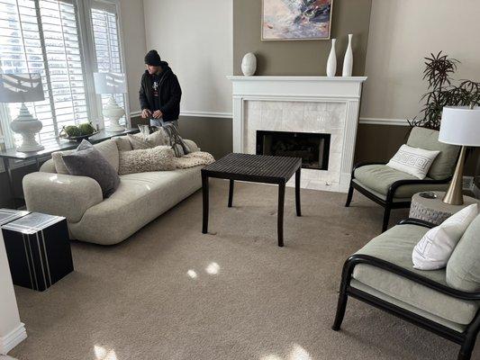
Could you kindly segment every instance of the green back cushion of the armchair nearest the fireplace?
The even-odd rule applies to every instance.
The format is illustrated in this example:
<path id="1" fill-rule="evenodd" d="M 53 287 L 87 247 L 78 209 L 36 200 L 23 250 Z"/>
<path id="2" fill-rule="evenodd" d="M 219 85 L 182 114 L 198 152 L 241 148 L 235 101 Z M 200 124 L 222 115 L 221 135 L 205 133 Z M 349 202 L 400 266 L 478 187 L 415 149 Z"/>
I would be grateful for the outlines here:
<path id="1" fill-rule="evenodd" d="M 440 142 L 439 131 L 414 127 L 407 140 L 407 145 L 413 148 L 440 151 L 427 174 L 430 178 L 443 180 L 453 175 L 460 148 L 456 145 Z"/>

